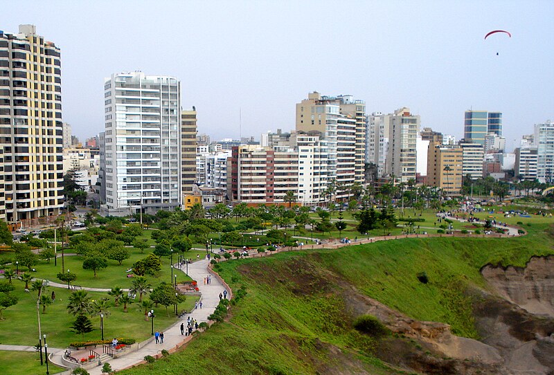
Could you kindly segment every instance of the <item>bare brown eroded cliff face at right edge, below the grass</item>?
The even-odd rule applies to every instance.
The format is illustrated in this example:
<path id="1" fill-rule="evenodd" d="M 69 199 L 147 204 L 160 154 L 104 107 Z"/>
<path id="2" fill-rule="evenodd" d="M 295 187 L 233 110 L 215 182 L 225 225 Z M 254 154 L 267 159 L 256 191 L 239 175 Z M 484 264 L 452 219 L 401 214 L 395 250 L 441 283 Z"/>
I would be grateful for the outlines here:
<path id="1" fill-rule="evenodd" d="M 554 256 L 532 257 L 525 268 L 488 265 L 481 273 L 502 298 L 554 318 Z"/>

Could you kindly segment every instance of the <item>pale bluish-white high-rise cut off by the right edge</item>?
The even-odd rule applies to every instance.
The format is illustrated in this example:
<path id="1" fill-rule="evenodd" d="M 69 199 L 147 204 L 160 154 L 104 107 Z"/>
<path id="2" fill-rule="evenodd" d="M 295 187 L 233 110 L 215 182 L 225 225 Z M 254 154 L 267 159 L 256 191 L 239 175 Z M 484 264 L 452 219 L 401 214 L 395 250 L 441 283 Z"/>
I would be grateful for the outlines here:
<path id="1" fill-rule="evenodd" d="M 535 125 L 537 146 L 537 179 L 542 183 L 554 181 L 554 122 Z"/>

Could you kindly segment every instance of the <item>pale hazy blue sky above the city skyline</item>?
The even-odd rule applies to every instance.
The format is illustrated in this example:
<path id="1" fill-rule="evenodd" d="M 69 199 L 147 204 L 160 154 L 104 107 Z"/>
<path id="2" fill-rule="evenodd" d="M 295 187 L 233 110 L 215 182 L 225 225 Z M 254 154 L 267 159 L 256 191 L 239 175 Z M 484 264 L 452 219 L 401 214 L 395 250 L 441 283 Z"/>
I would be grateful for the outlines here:
<path id="1" fill-rule="evenodd" d="M 554 120 L 554 1 L 10 1 L 0 30 L 62 50 L 63 120 L 104 129 L 104 79 L 181 80 L 181 105 L 212 140 L 294 129 L 312 91 L 401 107 L 463 135 L 467 109 L 501 111 L 508 149 Z M 512 37 L 490 30 L 508 30 Z M 498 55 L 497 55 L 498 53 Z"/>

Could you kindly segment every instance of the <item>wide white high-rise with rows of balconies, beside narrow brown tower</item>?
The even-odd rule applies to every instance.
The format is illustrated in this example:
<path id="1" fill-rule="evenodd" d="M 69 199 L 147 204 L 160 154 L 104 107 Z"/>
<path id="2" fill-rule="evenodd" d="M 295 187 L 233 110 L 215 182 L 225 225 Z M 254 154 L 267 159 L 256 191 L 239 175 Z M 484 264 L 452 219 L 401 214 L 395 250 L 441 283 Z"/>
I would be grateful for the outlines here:
<path id="1" fill-rule="evenodd" d="M 104 90 L 102 212 L 126 216 L 141 208 L 154 213 L 180 206 L 184 187 L 179 80 L 141 72 L 118 73 L 105 80 Z M 193 167 L 195 150 L 193 147 Z"/>

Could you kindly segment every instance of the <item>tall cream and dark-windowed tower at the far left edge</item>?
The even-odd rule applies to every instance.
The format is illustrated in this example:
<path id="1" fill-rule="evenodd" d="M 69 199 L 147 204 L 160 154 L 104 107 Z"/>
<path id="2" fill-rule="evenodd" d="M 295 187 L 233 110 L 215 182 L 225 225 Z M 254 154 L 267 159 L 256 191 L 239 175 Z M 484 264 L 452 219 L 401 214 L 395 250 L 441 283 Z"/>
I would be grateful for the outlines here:
<path id="1" fill-rule="evenodd" d="M 37 35 L 0 31 L 0 148 L 3 217 L 23 226 L 60 213 L 62 181 L 62 77 L 60 48 Z M 0 198 L 1 200 L 1 198 Z M 2 214 L 0 214 L 0 217 Z M 36 219 L 36 220 L 35 220 Z"/>

